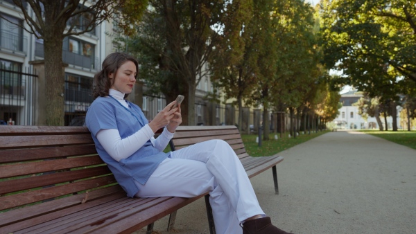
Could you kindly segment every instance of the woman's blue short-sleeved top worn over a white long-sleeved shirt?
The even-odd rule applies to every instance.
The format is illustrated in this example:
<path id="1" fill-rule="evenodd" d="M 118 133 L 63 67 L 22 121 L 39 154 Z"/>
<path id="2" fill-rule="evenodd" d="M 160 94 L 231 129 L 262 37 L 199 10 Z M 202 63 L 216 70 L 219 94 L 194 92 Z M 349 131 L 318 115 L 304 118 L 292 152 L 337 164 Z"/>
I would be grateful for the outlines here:
<path id="1" fill-rule="evenodd" d="M 121 159 L 119 162 L 104 150 L 96 138 L 96 134 L 101 129 L 118 129 L 123 139 L 139 131 L 148 123 L 140 107 L 131 102 L 128 104 L 130 109 L 123 107 L 119 101 L 113 98 L 98 97 L 89 107 L 85 120 L 94 139 L 98 155 L 107 163 L 116 181 L 127 192 L 128 197 L 134 197 L 139 192 L 135 180 L 141 184 L 146 183 L 169 153 L 159 152 L 153 147 L 150 140 L 127 159 Z"/>

